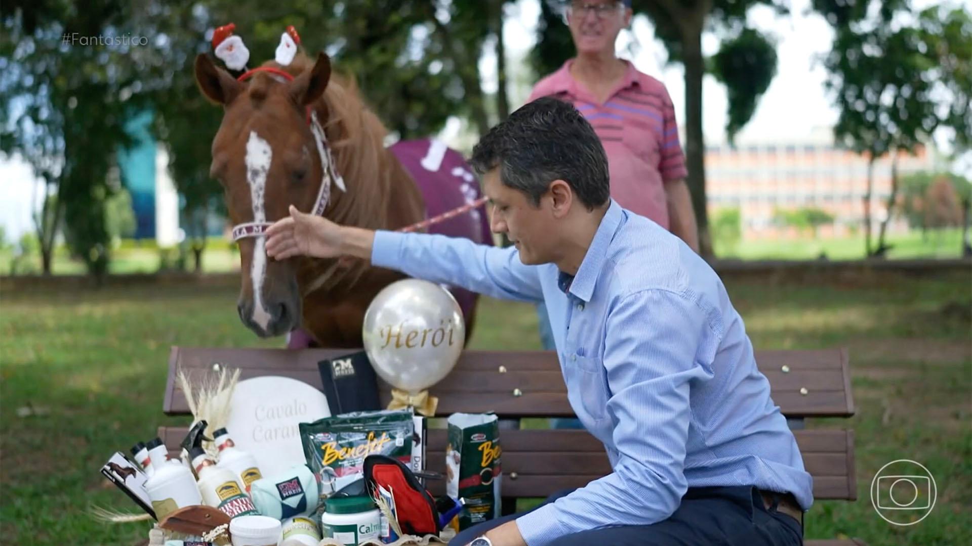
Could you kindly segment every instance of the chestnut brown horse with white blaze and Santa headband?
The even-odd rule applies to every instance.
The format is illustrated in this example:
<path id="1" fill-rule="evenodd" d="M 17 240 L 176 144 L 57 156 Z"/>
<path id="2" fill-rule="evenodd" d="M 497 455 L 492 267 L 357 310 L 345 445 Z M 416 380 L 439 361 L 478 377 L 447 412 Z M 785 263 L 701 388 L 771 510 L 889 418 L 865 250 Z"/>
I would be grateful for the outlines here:
<path id="1" fill-rule="evenodd" d="M 470 184 L 468 170 L 454 167 L 449 173 L 437 173 L 439 180 L 448 179 L 448 188 L 437 183 L 420 189 L 417 177 L 399 160 L 408 153 L 407 143 L 399 147 L 398 155 L 385 148 L 385 127 L 364 106 L 353 85 L 331 77 L 325 53 L 313 64 L 297 54 L 287 66 L 268 61 L 251 73 L 244 75 L 252 76 L 248 80 L 239 81 L 209 56 L 200 54 L 195 59 L 199 88 L 225 107 L 213 140 L 211 175 L 225 188 L 229 218 L 237 226 L 240 319 L 261 337 L 302 327 L 323 347 L 361 347 L 368 303 L 403 276 L 360 261 L 270 260 L 263 247 L 263 227 L 285 217 L 294 204 L 304 212 L 319 209 L 345 225 L 399 229 L 435 213 L 431 207 L 427 211 L 430 197 L 436 203 L 449 202 L 439 194 L 451 191 L 462 204 L 463 192 L 469 202 L 478 188 Z M 441 146 L 429 148 L 427 156 L 415 163 L 422 163 L 430 176 L 436 174 L 430 165 L 437 170 L 443 154 L 452 154 L 453 160 L 458 156 Z M 461 232 L 449 234 L 488 243 L 485 216 L 473 213 L 450 228 L 457 231 L 460 225 Z M 471 331 L 475 297 L 462 290 L 453 293 L 464 304 Z"/>

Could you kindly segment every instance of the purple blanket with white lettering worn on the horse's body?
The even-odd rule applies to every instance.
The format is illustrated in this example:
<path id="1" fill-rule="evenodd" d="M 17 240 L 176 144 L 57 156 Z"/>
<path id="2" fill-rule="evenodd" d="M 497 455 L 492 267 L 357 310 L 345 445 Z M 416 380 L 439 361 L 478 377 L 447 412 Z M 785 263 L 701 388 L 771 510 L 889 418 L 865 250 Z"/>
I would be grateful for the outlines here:
<path id="1" fill-rule="evenodd" d="M 412 175 L 422 191 L 427 219 L 462 207 L 480 197 L 479 183 L 463 155 L 449 149 L 445 143 L 434 139 L 405 140 L 399 141 L 389 150 L 398 157 L 401 165 Z M 484 245 L 493 244 L 489 220 L 486 218 L 485 207 L 482 206 L 430 226 L 429 233 L 466 237 Z M 450 288 L 449 291 L 459 302 L 468 324 L 477 294 L 459 288 Z M 288 338 L 290 349 L 304 349 L 310 344 L 311 338 L 303 330 L 291 332 Z"/>

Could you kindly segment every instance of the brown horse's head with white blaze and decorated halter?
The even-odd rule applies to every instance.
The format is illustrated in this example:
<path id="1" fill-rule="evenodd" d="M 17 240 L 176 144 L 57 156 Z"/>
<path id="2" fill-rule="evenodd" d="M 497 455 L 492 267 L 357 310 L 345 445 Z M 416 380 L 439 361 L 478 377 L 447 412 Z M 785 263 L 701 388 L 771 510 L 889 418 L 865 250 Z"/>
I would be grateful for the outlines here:
<path id="1" fill-rule="evenodd" d="M 225 107 L 210 173 L 226 191 L 236 226 L 239 316 L 262 337 L 291 331 L 301 316 L 294 260 L 268 260 L 262 231 L 287 216 L 291 204 L 304 212 L 323 210 L 330 192 L 333 167 L 321 127 L 327 119 L 319 122 L 309 114 L 330 81 L 330 59 L 320 53 L 309 65 L 302 55 L 289 67 L 266 63 L 265 71 L 239 82 L 207 55 L 195 59 L 199 88 Z"/>

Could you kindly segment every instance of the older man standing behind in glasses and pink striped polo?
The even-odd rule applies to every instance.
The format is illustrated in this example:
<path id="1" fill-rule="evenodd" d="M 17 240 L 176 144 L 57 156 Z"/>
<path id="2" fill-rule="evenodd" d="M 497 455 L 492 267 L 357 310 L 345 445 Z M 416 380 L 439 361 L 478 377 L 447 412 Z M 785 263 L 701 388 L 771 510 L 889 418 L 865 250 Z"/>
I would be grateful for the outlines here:
<path id="1" fill-rule="evenodd" d="M 554 96 L 573 103 L 594 126 L 608 154 L 611 197 L 698 252 L 672 99 L 665 85 L 614 54 L 618 33 L 631 24 L 631 17 L 631 0 L 573 1 L 567 21 L 577 54 L 534 86 L 528 102 Z M 543 303 L 538 304 L 538 320 L 543 348 L 553 350 Z M 555 419 L 553 426 L 579 428 L 579 423 Z"/>

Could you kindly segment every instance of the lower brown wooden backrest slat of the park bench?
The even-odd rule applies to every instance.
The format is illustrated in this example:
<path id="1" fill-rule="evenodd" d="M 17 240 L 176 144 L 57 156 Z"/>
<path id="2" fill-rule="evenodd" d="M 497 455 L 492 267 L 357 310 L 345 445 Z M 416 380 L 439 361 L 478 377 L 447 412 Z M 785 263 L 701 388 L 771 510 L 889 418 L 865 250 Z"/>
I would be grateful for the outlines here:
<path id="1" fill-rule="evenodd" d="M 160 427 L 159 437 L 175 455 L 186 427 Z M 856 498 L 853 481 L 851 430 L 795 430 L 807 471 L 814 477 L 816 498 Z M 610 472 L 604 445 L 585 430 L 519 429 L 501 432 L 503 495 L 547 496 L 583 487 Z M 428 468 L 445 472 L 444 429 L 429 430 Z M 512 479 L 512 473 L 517 478 Z M 442 481 L 430 483 L 435 495 L 445 492 Z"/>

